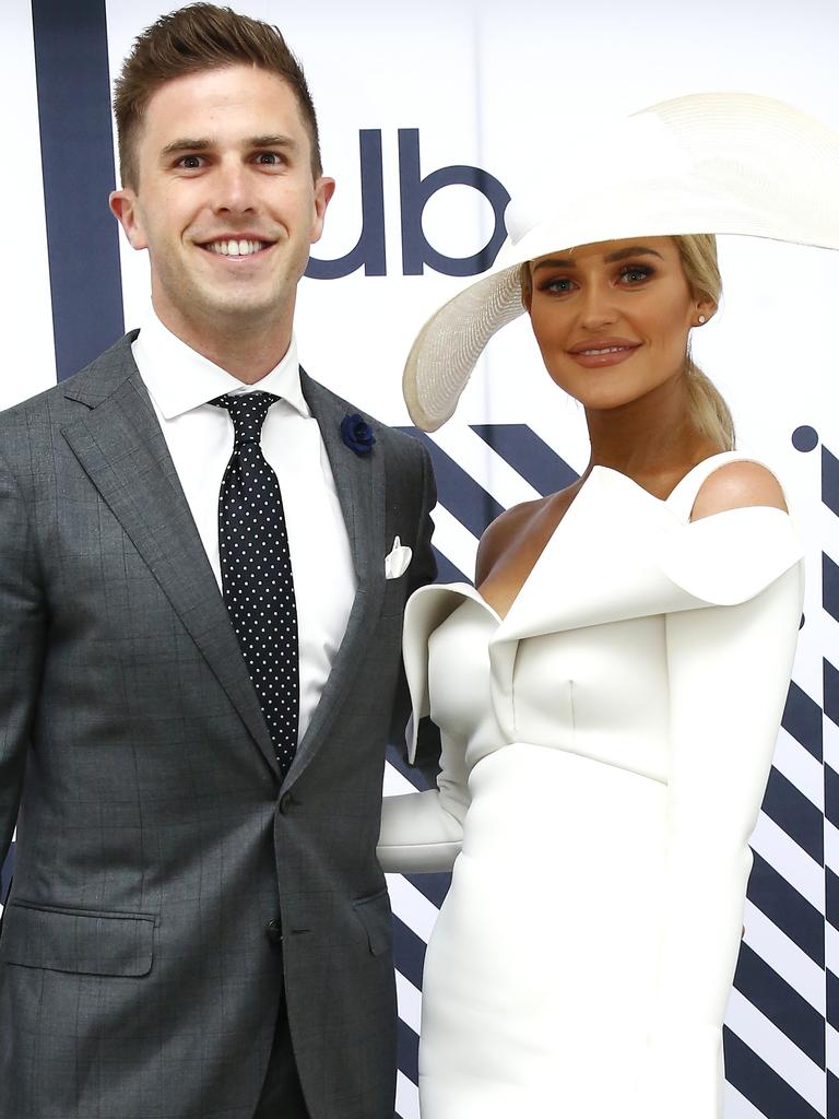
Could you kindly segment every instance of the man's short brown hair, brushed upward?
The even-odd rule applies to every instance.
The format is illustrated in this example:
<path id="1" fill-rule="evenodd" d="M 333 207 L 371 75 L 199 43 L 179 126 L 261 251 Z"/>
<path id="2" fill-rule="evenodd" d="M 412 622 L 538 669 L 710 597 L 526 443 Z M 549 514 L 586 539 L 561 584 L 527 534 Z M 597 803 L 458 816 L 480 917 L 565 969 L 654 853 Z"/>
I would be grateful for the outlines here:
<path id="1" fill-rule="evenodd" d="M 312 97 L 303 68 L 279 28 L 239 16 L 230 8 L 194 3 L 161 16 L 148 27 L 134 40 L 114 83 L 120 175 L 124 186 L 134 190 L 138 187 L 136 138 L 153 94 L 172 78 L 226 66 L 256 66 L 291 86 L 309 132 L 312 176 L 317 179 L 322 173 Z"/>

